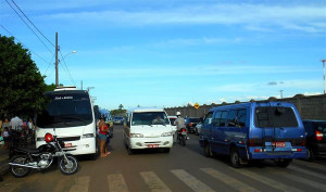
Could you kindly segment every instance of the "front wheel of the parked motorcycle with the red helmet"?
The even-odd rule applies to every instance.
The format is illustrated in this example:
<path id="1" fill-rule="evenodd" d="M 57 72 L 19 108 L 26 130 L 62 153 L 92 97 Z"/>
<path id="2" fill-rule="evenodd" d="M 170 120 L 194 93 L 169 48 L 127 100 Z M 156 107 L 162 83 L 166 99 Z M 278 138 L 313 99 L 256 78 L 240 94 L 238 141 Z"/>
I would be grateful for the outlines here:
<path id="1" fill-rule="evenodd" d="M 64 175 L 72 175 L 78 171 L 78 161 L 73 155 L 63 156 L 59 162 L 59 168 Z"/>

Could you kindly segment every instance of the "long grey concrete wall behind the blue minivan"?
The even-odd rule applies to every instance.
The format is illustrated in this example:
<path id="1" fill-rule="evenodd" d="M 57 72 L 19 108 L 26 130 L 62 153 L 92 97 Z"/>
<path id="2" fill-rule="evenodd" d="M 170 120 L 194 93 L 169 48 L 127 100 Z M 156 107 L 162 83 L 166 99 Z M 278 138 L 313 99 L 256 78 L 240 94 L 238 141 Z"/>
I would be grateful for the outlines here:
<path id="1" fill-rule="evenodd" d="M 253 101 L 253 100 L 251 100 Z M 276 99 L 269 98 L 266 101 L 283 101 L 292 103 L 298 108 L 302 119 L 322 119 L 326 120 L 326 94 L 319 95 L 303 95 L 297 94 L 293 98 Z M 235 103 L 240 103 L 236 101 Z M 198 110 L 193 106 L 179 106 L 165 108 L 168 115 L 175 115 L 176 112 L 181 112 L 181 115 L 188 117 L 204 117 L 210 108 L 235 103 L 222 103 L 212 105 L 201 105 Z"/>

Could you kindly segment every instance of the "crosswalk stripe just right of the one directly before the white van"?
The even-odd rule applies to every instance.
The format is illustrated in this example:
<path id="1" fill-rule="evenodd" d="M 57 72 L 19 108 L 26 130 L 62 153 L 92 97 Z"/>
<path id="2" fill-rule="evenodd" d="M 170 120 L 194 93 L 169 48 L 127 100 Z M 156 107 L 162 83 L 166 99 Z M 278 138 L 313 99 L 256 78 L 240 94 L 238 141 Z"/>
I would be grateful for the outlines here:
<path id="1" fill-rule="evenodd" d="M 191 188 L 196 192 L 212 192 L 210 187 L 199 181 L 197 178 L 192 177 L 188 172 L 181 169 L 171 170 L 177 178 L 184 181 L 189 188 Z"/>

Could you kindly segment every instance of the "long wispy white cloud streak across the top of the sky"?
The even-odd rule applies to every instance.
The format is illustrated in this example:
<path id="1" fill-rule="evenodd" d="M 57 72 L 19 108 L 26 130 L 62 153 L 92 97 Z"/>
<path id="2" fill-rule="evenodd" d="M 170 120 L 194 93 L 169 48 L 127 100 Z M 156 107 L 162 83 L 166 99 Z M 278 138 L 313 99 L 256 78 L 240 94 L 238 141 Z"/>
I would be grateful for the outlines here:
<path id="1" fill-rule="evenodd" d="M 82 9 L 84 10 L 84 9 Z M 110 25 L 166 25 L 218 24 L 243 25 L 247 29 L 268 31 L 276 26 L 309 33 L 325 31 L 325 5 L 271 4 L 195 4 L 174 9 L 59 12 L 39 15 L 39 18 L 68 20 L 82 23 Z"/>

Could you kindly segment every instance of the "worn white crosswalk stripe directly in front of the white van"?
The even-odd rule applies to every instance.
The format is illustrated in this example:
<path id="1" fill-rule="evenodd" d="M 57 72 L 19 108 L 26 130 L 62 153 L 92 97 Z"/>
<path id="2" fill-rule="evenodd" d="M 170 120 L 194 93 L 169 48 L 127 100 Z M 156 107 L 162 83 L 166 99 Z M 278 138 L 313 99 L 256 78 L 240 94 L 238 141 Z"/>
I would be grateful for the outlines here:
<path id="1" fill-rule="evenodd" d="M 140 172 L 140 175 L 152 192 L 172 192 L 153 171 Z"/>

